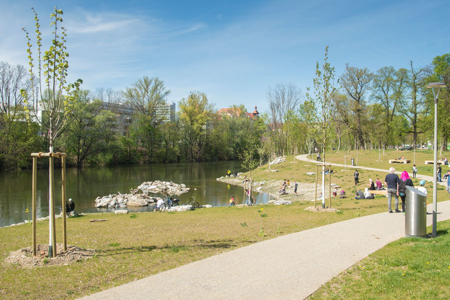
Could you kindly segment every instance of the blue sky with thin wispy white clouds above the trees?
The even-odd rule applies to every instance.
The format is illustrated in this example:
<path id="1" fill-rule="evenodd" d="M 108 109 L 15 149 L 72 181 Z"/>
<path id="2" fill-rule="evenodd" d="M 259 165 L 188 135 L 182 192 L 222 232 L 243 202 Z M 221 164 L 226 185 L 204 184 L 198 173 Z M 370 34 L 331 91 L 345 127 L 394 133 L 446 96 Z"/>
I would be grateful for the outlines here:
<path id="1" fill-rule="evenodd" d="M 279 82 L 306 91 L 326 45 L 336 77 L 347 62 L 375 71 L 412 59 L 418 67 L 450 52 L 443 0 L 0 0 L 0 60 L 27 64 L 21 28 L 34 30 L 30 6 L 49 33 L 55 4 L 64 11 L 69 79 L 82 78 L 82 88 L 122 89 L 158 76 L 169 101 L 198 90 L 217 109 L 266 111 L 267 89 Z"/>

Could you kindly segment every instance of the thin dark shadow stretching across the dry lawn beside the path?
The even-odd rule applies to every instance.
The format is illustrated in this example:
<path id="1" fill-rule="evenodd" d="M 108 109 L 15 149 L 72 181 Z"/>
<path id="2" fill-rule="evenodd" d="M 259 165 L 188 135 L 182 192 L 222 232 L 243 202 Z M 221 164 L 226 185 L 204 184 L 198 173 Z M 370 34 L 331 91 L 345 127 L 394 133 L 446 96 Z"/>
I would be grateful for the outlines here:
<path id="1" fill-rule="evenodd" d="M 98 256 L 110 256 L 110 255 L 119 255 L 126 253 L 135 253 L 135 252 L 148 252 L 153 250 L 167 250 L 177 252 L 176 249 L 195 249 L 195 248 L 221 248 L 228 249 L 232 247 L 237 247 L 238 245 L 245 246 L 247 244 L 251 244 L 256 242 L 256 240 L 246 240 L 235 242 L 233 239 L 222 239 L 222 240 L 203 240 L 203 239 L 194 239 L 191 244 L 173 244 L 173 245 L 163 245 L 163 246 L 139 246 L 139 247 L 121 247 L 121 248 L 112 248 L 112 249 L 102 249 L 97 250 Z"/>

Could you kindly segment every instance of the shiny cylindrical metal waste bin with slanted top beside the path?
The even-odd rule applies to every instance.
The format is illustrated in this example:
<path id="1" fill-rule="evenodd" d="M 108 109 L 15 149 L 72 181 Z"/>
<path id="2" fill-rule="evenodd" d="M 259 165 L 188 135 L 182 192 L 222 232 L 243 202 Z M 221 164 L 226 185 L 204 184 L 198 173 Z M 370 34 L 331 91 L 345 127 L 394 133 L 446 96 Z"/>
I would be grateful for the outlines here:
<path id="1" fill-rule="evenodd" d="M 414 187 L 406 186 L 405 197 L 405 236 L 424 237 L 426 234 L 426 195 Z"/>

